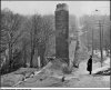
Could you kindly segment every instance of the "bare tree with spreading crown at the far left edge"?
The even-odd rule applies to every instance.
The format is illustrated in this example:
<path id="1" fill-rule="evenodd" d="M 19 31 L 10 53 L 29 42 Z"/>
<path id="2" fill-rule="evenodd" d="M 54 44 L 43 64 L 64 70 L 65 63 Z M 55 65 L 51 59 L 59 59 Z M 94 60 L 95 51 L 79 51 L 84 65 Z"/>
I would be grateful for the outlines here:
<path id="1" fill-rule="evenodd" d="M 19 14 L 13 14 L 10 10 L 4 10 L 2 13 L 2 41 L 1 44 L 6 44 L 9 52 L 9 69 L 11 70 L 13 60 L 13 44 L 18 41 L 19 37 L 22 34 L 20 31 L 21 17 Z"/>

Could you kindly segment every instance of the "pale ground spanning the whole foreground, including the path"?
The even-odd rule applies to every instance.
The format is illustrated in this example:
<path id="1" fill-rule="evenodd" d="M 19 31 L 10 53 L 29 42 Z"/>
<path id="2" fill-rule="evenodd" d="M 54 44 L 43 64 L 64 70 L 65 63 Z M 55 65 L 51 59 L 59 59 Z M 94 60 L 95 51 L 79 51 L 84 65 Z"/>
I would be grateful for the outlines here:
<path id="1" fill-rule="evenodd" d="M 100 68 L 100 63 L 93 63 L 93 70 Z M 24 70 L 24 69 L 23 69 Z M 27 74 L 34 71 L 26 69 Z M 23 71 L 9 73 L 1 77 L 1 87 L 12 87 L 22 79 Z M 17 74 L 18 73 L 18 74 Z M 27 81 L 16 86 L 18 88 L 110 88 L 110 76 L 92 76 L 87 71 L 87 61 L 80 63 L 79 69 L 74 69 L 72 74 L 65 74 L 65 81 L 62 82 L 62 76 L 46 76 L 46 73 L 37 74 Z"/>

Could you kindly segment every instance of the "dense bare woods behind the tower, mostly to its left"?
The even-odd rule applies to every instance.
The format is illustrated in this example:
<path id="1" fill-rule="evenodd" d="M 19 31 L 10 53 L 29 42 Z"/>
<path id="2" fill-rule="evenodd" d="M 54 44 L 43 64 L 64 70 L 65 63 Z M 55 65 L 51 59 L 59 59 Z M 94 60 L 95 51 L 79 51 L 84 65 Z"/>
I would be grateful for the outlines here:
<path id="1" fill-rule="evenodd" d="M 69 18 L 70 33 L 77 31 L 74 16 Z M 1 10 L 1 73 L 21 67 L 42 68 L 48 57 L 56 57 L 54 16 L 22 16 Z M 70 34 L 69 33 L 69 34 Z"/>

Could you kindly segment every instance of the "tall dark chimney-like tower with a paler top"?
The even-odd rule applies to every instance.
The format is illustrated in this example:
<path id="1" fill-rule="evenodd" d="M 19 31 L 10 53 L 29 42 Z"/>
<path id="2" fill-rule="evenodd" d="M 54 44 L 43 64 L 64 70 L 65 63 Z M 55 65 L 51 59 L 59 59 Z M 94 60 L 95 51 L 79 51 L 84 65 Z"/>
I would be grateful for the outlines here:
<path id="1" fill-rule="evenodd" d="M 56 58 L 69 62 L 69 10 L 65 3 L 57 4 L 56 32 Z"/>

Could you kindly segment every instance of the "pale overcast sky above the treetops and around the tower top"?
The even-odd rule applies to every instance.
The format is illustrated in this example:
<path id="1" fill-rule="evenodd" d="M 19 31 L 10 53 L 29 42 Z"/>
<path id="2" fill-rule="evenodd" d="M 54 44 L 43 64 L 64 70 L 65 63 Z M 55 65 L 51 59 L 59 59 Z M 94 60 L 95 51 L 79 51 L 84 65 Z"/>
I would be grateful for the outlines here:
<path id="1" fill-rule="evenodd" d="M 99 9 L 103 14 L 110 14 L 110 1 L 1 1 L 1 9 L 9 8 L 21 14 L 54 14 L 58 3 L 67 3 L 69 13 L 78 17 L 90 14 Z"/>

